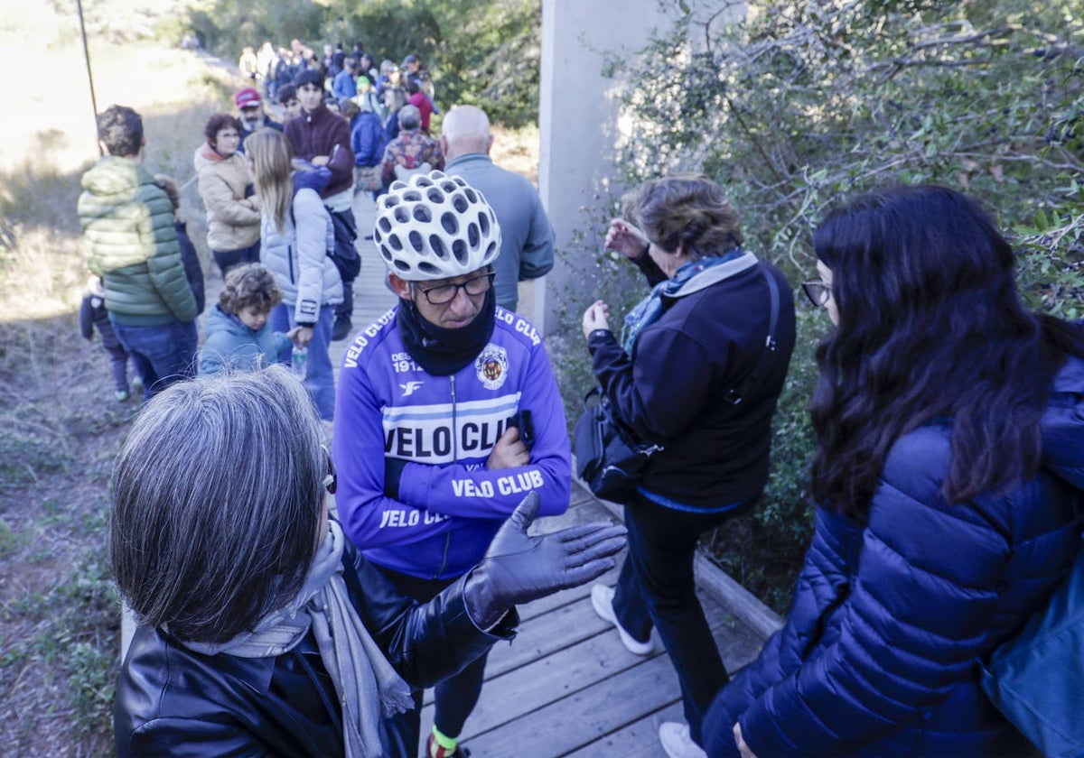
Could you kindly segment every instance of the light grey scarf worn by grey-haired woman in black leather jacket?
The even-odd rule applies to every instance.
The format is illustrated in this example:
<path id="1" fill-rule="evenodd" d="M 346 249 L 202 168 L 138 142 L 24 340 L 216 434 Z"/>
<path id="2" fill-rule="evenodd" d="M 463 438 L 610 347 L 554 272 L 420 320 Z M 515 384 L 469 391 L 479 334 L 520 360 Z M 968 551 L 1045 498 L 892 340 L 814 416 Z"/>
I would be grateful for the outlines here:
<path id="1" fill-rule="evenodd" d="M 410 710 L 414 701 L 410 687 L 391 668 L 350 602 L 343 578 L 344 545 L 343 528 L 328 521 L 327 537 L 288 605 L 266 615 L 253 631 L 227 642 L 182 644 L 205 655 L 276 657 L 297 646 L 311 629 L 343 706 L 346 757 L 378 758 L 385 755 L 380 718 Z"/>

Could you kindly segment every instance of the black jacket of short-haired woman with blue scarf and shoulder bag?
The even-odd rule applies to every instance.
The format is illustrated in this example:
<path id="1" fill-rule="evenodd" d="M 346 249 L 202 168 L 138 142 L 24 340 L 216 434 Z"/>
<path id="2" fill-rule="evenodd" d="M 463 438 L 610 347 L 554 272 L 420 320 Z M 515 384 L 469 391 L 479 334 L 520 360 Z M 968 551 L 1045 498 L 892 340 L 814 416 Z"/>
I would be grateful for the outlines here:
<path id="1" fill-rule="evenodd" d="M 664 277 L 644 256 L 648 283 Z M 761 381 L 741 403 L 724 400 L 757 363 L 767 336 L 770 296 L 761 273 L 779 286 L 776 349 Z M 795 303 L 771 263 L 697 292 L 663 299 L 664 311 L 624 354 L 609 331 L 588 340 L 595 377 L 617 416 L 641 439 L 659 443 L 641 484 L 694 508 L 718 508 L 754 497 L 767 482 L 772 414 L 795 348 Z"/>

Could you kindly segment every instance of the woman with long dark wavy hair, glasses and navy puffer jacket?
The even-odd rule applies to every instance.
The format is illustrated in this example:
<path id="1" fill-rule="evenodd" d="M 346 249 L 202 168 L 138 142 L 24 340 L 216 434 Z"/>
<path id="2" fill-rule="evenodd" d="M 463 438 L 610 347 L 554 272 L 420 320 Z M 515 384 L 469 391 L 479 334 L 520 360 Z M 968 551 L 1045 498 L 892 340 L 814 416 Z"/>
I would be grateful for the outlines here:
<path id="1" fill-rule="evenodd" d="M 709 755 L 1022 755 L 977 661 L 1066 576 L 1084 337 L 1029 313 L 968 198 L 872 193 L 814 234 L 822 504 L 786 624 L 722 690 Z"/>

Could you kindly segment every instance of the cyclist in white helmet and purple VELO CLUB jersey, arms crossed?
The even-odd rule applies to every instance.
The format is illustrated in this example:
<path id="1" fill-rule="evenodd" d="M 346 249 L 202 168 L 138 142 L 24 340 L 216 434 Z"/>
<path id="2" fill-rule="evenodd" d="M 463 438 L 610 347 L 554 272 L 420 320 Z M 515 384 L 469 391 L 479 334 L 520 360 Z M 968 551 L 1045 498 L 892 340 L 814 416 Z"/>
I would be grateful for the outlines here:
<path id="1" fill-rule="evenodd" d="M 541 338 L 496 304 L 501 232 L 481 193 L 416 174 L 380 197 L 373 234 L 399 304 L 343 361 L 336 501 L 366 560 L 421 600 L 469 572 L 525 493 L 540 514 L 568 508 L 568 430 Z M 437 685 L 426 755 L 457 755 L 485 668 L 482 656 Z M 417 745 L 418 713 L 401 718 Z"/>

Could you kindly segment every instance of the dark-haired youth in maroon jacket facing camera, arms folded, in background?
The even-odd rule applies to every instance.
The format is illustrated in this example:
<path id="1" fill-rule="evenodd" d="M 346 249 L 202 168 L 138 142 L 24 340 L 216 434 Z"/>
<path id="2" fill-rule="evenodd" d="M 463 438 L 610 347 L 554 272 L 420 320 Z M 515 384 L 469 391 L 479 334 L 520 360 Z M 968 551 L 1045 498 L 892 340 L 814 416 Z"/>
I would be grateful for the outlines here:
<path id="1" fill-rule="evenodd" d="M 320 196 L 335 226 L 334 260 L 343 282 L 343 298 L 335 309 L 332 339 L 345 339 L 353 328 L 353 280 L 361 258 L 353 240 L 358 224 L 353 218 L 353 151 L 350 126 L 324 104 L 323 80 L 317 70 L 306 70 L 294 82 L 301 102 L 301 116 L 286 125 L 286 138 L 294 156 L 331 171 L 331 180 Z"/>

